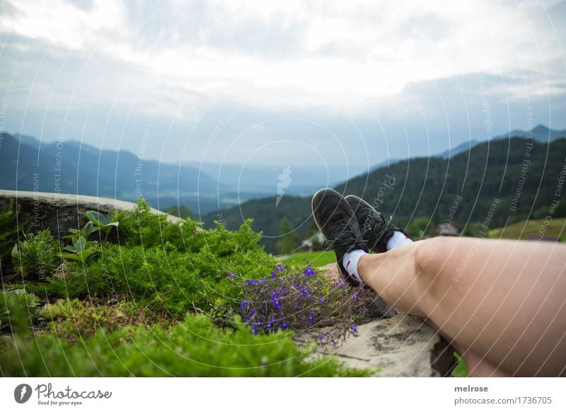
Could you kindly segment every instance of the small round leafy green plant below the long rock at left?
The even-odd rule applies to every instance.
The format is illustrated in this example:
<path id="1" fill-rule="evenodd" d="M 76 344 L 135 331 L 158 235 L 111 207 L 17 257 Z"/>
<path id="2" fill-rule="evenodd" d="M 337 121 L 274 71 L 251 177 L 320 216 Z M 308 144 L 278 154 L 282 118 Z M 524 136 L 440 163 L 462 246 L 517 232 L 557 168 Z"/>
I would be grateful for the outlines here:
<path id="1" fill-rule="evenodd" d="M 49 229 L 23 236 L 25 240 L 18 241 L 12 249 L 14 268 L 24 277 L 43 279 L 59 264 L 59 242 L 53 239 Z"/>

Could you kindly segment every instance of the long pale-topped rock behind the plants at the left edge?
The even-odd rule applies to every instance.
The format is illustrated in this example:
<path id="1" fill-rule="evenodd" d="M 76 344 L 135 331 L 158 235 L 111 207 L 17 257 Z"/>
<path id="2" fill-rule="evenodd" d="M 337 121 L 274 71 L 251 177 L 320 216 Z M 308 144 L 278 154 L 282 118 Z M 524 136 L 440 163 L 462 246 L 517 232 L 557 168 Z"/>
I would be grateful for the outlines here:
<path id="1" fill-rule="evenodd" d="M 11 199 L 21 207 L 20 223 L 23 223 L 24 219 L 30 219 L 34 225 L 33 231 L 50 229 L 56 239 L 69 234 L 69 229 L 76 229 L 87 222 L 82 212 L 97 210 L 108 213 L 112 210 L 132 210 L 136 207 L 132 202 L 96 196 L 0 190 L 0 207 L 8 205 Z M 153 210 L 156 213 L 163 213 Z M 169 215 L 168 220 L 178 222 L 182 219 Z"/>

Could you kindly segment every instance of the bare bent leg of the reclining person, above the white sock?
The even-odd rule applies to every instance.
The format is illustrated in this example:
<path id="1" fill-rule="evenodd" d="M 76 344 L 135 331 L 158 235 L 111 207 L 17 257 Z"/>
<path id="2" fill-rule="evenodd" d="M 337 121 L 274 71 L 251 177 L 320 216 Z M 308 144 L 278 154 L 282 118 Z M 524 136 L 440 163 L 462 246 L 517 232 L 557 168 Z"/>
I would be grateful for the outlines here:
<path id="1" fill-rule="evenodd" d="M 439 237 L 363 256 L 358 270 L 427 318 L 470 376 L 566 376 L 566 246 Z"/>

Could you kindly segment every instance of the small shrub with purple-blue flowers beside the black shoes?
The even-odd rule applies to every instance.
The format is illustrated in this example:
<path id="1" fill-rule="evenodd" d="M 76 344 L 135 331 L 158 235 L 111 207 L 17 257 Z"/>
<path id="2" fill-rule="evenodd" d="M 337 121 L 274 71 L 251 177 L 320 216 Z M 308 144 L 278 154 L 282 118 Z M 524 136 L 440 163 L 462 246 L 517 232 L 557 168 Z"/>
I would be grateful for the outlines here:
<path id="1" fill-rule="evenodd" d="M 237 275 L 231 277 L 237 279 Z M 243 290 L 238 311 L 252 333 L 333 326 L 320 336 L 323 343 L 357 333 L 355 315 L 366 303 L 359 296 L 364 291 L 330 282 L 318 276 L 311 265 L 305 270 L 277 265 L 267 277 L 244 280 Z"/>

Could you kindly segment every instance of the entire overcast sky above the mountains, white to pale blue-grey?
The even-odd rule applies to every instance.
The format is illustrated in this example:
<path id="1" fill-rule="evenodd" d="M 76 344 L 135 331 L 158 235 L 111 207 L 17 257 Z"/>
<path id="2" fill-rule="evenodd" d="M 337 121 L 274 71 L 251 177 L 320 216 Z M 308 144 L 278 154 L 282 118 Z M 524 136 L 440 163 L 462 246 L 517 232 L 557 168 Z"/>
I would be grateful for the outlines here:
<path id="1" fill-rule="evenodd" d="M 530 108 L 565 129 L 565 21 L 564 1 L 4 0 L 2 126 L 357 170 L 526 129 Z"/>

